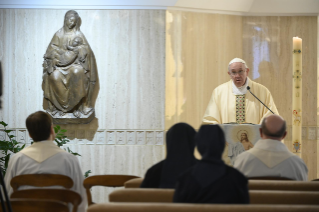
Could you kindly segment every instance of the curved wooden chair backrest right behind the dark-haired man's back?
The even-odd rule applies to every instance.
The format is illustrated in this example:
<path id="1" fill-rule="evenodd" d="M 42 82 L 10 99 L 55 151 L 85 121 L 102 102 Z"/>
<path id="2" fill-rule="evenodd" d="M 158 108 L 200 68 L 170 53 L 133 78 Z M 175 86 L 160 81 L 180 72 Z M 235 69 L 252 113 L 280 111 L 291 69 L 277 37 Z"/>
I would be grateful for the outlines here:
<path id="1" fill-rule="evenodd" d="M 11 179 L 10 182 L 13 191 L 17 191 L 20 186 L 48 187 L 63 186 L 70 189 L 73 186 L 73 180 L 61 174 L 24 174 Z"/>

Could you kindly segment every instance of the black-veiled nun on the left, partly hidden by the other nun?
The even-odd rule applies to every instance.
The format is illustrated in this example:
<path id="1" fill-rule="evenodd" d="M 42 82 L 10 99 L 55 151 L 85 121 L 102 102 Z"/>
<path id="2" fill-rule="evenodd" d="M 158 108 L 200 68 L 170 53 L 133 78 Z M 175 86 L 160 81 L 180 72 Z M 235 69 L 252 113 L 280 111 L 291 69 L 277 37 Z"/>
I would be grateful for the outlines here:
<path id="1" fill-rule="evenodd" d="M 166 134 L 167 156 L 149 168 L 141 188 L 174 188 L 178 175 L 196 163 L 195 134 L 186 123 L 172 126 Z"/>

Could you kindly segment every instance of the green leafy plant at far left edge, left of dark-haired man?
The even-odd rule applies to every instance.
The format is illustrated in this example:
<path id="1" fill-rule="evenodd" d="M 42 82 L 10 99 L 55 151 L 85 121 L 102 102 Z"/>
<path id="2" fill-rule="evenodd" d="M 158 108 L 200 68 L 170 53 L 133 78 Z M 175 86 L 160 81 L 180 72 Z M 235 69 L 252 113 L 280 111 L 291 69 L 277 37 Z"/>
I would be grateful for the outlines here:
<path id="1" fill-rule="evenodd" d="M 4 127 L 4 132 L 6 133 L 4 140 L 0 140 L 0 150 L 2 153 L 2 157 L 0 157 L 0 169 L 2 170 L 4 176 L 8 168 L 11 153 L 20 152 L 25 147 L 25 144 L 21 145 L 21 142 L 18 142 L 14 139 L 14 135 L 10 135 L 12 130 L 7 130 L 7 123 L 1 121 L 0 124 Z M 6 137 L 9 138 L 8 141 L 6 140 Z"/>

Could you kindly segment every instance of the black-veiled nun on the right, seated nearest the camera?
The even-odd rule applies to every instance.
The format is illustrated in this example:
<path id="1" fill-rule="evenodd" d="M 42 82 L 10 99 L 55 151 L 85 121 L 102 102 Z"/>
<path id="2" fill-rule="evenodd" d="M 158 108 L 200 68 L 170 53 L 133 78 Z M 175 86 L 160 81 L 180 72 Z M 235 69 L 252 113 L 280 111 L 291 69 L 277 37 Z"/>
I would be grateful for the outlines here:
<path id="1" fill-rule="evenodd" d="M 248 181 L 222 161 L 225 136 L 218 125 L 203 125 L 196 135 L 202 160 L 179 176 L 174 202 L 248 204 Z"/>

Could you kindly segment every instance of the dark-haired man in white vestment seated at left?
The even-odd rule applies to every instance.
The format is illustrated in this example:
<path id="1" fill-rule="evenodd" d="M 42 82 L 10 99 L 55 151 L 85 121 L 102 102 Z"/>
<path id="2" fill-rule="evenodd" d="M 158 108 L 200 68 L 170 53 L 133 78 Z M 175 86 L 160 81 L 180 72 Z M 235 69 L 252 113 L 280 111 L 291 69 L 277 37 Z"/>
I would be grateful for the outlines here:
<path id="1" fill-rule="evenodd" d="M 26 125 L 34 143 L 10 158 L 4 179 L 8 195 L 10 196 L 13 192 L 10 181 L 15 176 L 23 174 L 62 174 L 73 180 L 74 184 L 71 189 L 78 192 L 82 197 L 78 212 L 84 212 L 87 199 L 83 187 L 84 176 L 79 161 L 74 155 L 65 152 L 53 142 L 55 133 L 51 116 L 42 111 L 35 112 L 28 116 Z M 34 187 L 21 186 L 21 188 Z"/>

